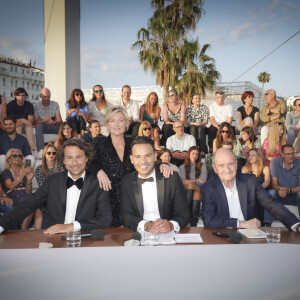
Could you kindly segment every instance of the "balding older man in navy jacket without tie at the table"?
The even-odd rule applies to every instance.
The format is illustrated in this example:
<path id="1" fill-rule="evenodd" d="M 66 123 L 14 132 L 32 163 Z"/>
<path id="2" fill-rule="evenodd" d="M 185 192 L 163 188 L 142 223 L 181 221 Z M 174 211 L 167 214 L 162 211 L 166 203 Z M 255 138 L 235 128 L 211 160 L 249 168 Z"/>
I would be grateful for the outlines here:
<path id="1" fill-rule="evenodd" d="M 202 218 L 205 227 L 258 228 L 257 201 L 287 228 L 299 231 L 299 220 L 275 201 L 257 182 L 255 175 L 237 173 L 234 153 L 217 150 L 213 157 L 217 175 L 201 187 Z"/>

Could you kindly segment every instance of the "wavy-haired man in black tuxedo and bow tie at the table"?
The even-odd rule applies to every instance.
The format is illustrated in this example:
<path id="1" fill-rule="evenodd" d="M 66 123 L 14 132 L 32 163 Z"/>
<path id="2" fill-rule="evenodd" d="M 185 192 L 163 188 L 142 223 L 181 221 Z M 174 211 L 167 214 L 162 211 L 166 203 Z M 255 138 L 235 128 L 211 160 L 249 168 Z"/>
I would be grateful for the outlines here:
<path id="1" fill-rule="evenodd" d="M 85 170 L 92 156 L 91 145 L 79 139 L 67 140 L 60 153 L 67 171 L 49 175 L 36 193 L 0 219 L 0 232 L 43 205 L 47 206 L 50 226 L 46 234 L 109 227 L 112 215 L 108 192 Z"/>

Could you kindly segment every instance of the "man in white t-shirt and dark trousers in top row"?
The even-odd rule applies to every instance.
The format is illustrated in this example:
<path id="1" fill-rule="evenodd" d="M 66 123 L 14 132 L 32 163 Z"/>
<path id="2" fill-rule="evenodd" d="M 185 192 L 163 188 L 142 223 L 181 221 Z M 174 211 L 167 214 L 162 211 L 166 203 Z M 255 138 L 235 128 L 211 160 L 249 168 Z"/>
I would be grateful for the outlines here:
<path id="1" fill-rule="evenodd" d="M 213 141 L 217 135 L 219 125 L 223 122 L 227 122 L 231 125 L 233 120 L 232 105 L 225 104 L 224 91 L 216 91 L 216 102 L 209 106 L 209 120 L 211 126 L 208 128 L 208 146 L 210 152 L 212 152 Z"/>

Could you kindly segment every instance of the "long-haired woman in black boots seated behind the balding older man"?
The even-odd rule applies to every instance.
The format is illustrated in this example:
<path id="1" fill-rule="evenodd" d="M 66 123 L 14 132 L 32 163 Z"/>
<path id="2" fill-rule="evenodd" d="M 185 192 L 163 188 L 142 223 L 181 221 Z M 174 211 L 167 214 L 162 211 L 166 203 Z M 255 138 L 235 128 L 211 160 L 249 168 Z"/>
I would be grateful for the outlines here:
<path id="1" fill-rule="evenodd" d="M 179 167 L 179 175 L 186 189 L 190 208 L 190 224 L 197 226 L 200 210 L 200 186 L 207 179 L 205 160 L 201 161 L 199 149 L 193 146 L 186 153 L 184 164 Z"/>

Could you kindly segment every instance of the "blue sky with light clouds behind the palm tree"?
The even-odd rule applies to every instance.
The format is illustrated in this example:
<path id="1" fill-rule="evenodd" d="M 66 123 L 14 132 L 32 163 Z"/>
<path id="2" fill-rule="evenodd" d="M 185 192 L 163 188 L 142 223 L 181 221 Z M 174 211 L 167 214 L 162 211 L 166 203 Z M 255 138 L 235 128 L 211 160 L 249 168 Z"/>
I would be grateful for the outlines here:
<path id="1" fill-rule="evenodd" d="M 57 1 L 57 0 L 56 0 Z M 0 53 L 44 68 L 43 0 L 0 0 Z M 207 0 L 192 36 L 215 58 L 222 81 L 232 81 L 300 30 L 300 0 Z M 131 50 L 147 26 L 150 0 L 81 0 L 81 88 L 155 85 Z M 243 75 L 260 86 L 266 71 L 280 96 L 300 94 L 300 34 Z"/>

